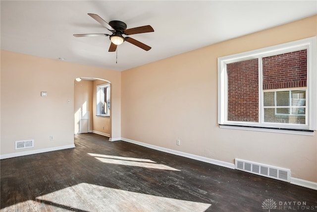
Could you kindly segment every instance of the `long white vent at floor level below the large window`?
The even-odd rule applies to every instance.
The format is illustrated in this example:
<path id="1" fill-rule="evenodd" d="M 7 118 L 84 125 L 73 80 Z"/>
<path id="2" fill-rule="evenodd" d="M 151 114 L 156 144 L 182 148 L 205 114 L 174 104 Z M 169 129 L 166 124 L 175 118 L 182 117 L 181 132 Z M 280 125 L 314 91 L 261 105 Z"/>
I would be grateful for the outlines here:
<path id="1" fill-rule="evenodd" d="M 250 172 L 253 174 L 269 177 L 286 182 L 291 181 L 291 170 L 269 166 L 261 163 L 251 162 L 247 160 L 235 159 L 235 168 L 238 170 Z"/>

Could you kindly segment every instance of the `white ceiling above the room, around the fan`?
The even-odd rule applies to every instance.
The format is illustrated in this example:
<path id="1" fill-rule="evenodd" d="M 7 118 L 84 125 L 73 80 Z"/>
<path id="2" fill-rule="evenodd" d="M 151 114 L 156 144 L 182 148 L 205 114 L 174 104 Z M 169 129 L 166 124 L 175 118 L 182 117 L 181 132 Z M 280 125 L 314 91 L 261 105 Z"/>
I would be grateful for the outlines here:
<path id="1" fill-rule="evenodd" d="M 1 49 L 123 71 L 317 14 L 317 0 L 22 0 L 0 2 Z M 106 33 L 87 13 L 127 28 L 151 25 L 155 32 L 130 35 L 152 47 L 124 42 L 108 52 Z"/>

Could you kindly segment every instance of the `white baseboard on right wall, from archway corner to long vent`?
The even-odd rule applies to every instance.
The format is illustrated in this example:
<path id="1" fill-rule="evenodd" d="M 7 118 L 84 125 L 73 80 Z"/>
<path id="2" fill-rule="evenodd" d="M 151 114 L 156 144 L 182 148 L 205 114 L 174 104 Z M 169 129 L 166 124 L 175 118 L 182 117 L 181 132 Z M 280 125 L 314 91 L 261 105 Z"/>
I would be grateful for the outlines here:
<path id="1" fill-rule="evenodd" d="M 175 154 L 175 155 L 179 155 L 179 156 L 183 156 L 183 157 L 191 158 L 194 160 L 199 160 L 199 161 L 203 161 L 206 163 L 211 163 L 211 164 L 215 164 L 215 165 L 219 165 L 219 166 L 223 166 L 223 167 L 227 167 L 227 168 L 231 168 L 231 169 L 235 168 L 234 163 L 228 163 L 228 162 L 224 162 L 224 161 L 220 161 L 220 160 L 215 160 L 215 159 L 211 159 L 211 158 L 207 158 L 207 157 L 198 156 L 195 154 L 189 154 L 189 153 L 185 153 L 185 152 L 181 152 L 181 151 L 176 151 L 173 149 L 163 148 L 160 146 L 156 146 L 156 145 L 152 145 L 152 144 L 148 144 L 148 143 L 143 143 L 143 142 L 139 142 L 139 141 L 133 141 L 130 139 L 125 139 L 125 138 L 121 138 L 121 141 L 134 143 L 137 145 L 145 146 L 145 147 L 156 149 L 159 151 L 163 151 L 163 152 L 167 152 L 167 153 L 171 153 L 171 154 Z"/>

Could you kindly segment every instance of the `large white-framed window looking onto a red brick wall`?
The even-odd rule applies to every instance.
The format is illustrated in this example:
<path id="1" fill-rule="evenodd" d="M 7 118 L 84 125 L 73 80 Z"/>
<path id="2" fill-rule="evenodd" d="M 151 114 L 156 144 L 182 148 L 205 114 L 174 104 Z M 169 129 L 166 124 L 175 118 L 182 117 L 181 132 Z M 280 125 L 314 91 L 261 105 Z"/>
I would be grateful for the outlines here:
<path id="1" fill-rule="evenodd" d="M 218 58 L 218 124 L 316 130 L 316 37 Z"/>

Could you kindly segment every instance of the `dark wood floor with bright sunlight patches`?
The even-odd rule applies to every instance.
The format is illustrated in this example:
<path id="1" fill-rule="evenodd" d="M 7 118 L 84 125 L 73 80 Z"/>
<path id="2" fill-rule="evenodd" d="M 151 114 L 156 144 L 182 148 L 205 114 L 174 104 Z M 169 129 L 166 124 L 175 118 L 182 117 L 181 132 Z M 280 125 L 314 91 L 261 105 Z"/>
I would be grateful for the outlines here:
<path id="1" fill-rule="evenodd" d="M 96 134 L 75 145 L 2 159 L 1 211 L 317 211 L 312 189 Z"/>

